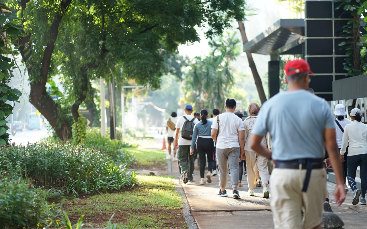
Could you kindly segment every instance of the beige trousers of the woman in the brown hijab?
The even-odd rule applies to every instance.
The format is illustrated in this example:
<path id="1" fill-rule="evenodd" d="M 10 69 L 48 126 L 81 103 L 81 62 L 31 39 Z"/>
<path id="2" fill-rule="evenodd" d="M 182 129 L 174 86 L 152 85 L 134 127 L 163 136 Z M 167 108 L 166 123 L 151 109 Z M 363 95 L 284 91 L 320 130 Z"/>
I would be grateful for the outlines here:
<path id="1" fill-rule="evenodd" d="M 268 170 L 268 158 L 259 155 L 257 152 L 245 150 L 246 167 L 247 167 L 247 183 L 249 189 L 254 189 L 256 180 L 255 165 L 259 170 L 259 175 L 263 184 L 268 184 L 269 170 Z"/>

